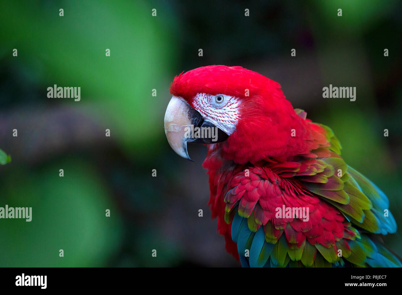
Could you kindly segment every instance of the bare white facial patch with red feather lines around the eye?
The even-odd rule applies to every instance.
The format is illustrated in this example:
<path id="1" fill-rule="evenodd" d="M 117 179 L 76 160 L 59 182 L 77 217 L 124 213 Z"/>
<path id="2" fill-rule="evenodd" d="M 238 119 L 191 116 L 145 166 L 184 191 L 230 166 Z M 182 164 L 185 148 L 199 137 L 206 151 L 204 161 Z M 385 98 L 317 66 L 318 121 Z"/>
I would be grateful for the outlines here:
<path id="1" fill-rule="evenodd" d="M 216 127 L 230 135 L 236 130 L 240 118 L 240 99 L 224 94 L 199 93 L 194 97 L 194 108 Z"/>

